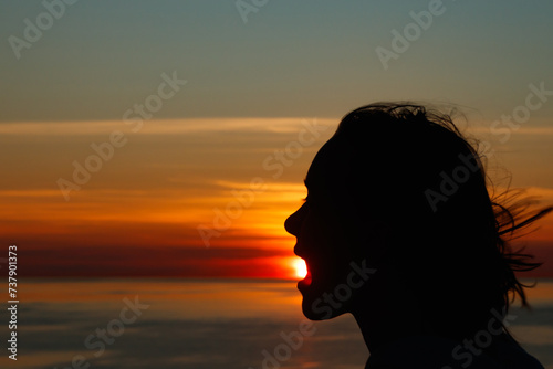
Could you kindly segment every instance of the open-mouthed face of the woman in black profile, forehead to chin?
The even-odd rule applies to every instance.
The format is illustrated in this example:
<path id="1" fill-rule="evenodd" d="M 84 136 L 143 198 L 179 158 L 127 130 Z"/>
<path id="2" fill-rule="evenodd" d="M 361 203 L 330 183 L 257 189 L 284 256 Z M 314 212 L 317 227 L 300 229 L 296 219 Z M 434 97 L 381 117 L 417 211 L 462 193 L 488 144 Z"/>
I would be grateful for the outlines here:
<path id="1" fill-rule="evenodd" d="M 303 314 L 312 320 L 328 319 L 349 310 L 352 299 L 336 298 L 336 286 L 344 285 L 351 272 L 352 255 L 344 219 L 348 208 L 344 176 L 347 176 L 347 151 L 331 138 L 316 154 L 305 178 L 307 198 L 290 215 L 284 228 L 296 236 L 294 253 L 304 259 L 307 276 L 298 283 L 302 293 Z"/>

